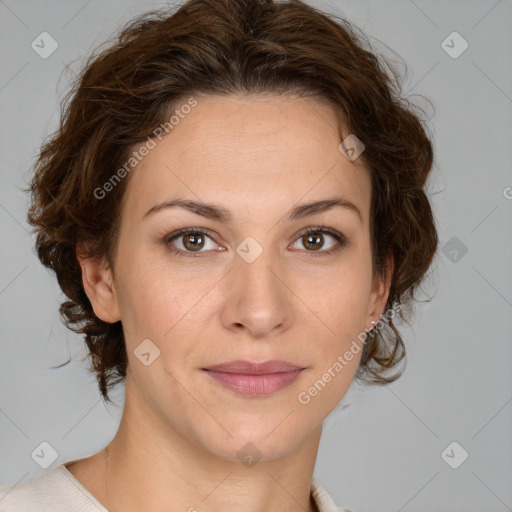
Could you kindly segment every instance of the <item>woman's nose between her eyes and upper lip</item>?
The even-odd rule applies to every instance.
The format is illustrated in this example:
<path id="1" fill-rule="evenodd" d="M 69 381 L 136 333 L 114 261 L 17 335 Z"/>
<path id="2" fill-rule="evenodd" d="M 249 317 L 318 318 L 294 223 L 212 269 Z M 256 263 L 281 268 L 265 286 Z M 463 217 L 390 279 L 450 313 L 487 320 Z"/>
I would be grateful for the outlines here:
<path id="1" fill-rule="evenodd" d="M 254 247 L 251 248 L 254 250 Z M 292 322 L 292 292 L 277 255 L 264 250 L 253 261 L 238 254 L 223 287 L 221 320 L 229 330 L 253 338 L 280 333 Z"/>

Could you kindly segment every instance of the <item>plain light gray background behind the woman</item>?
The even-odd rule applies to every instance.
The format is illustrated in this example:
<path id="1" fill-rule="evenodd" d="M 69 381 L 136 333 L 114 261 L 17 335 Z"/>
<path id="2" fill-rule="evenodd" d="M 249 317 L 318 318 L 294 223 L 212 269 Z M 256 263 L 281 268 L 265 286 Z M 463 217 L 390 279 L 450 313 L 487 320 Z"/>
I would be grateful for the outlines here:
<path id="1" fill-rule="evenodd" d="M 406 372 L 382 388 L 351 387 L 324 423 L 315 474 L 355 512 L 512 510 L 512 2 L 310 3 L 397 52 L 406 94 L 432 100 L 440 235 L 425 286 L 434 298 L 402 327 Z M 43 441 L 55 465 L 100 450 L 117 429 L 123 389 L 119 407 L 104 406 L 83 342 L 61 325 L 61 293 L 35 256 L 20 187 L 89 52 L 161 6 L 0 1 L 0 485 L 42 471 L 31 453 Z M 31 48 L 43 31 L 59 44 L 47 59 Z M 441 46 L 453 31 L 469 44 L 458 58 Z M 469 454 L 457 469 L 441 456 L 453 441 L 451 461 Z"/>

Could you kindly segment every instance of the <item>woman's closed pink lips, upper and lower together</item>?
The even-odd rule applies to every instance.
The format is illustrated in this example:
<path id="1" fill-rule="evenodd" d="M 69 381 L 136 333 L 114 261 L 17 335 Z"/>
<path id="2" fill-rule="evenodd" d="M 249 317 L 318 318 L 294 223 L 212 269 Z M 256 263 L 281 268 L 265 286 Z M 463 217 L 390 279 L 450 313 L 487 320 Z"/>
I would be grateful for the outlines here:
<path id="1" fill-rule="evenodd" d="M 286 361 L 229 361 L 203 368 L 228 389 L 246 396 L 267 396 L 291 385 L 305 368 Z"/>

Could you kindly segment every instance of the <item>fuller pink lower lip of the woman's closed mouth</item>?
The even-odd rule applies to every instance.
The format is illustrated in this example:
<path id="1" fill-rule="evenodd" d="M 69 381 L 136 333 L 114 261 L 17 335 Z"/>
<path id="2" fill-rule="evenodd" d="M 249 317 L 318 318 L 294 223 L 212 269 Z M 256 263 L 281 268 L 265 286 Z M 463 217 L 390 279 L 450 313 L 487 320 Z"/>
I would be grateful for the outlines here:
<path id="1" fill-rule="evenodd" d="M 249 396 L 266 396 L 281 391 L 289 386 L 301 372 L 302 369 L 265 375 L 246 375 L 206 370 L 210 377 L 223 386 L 241 395 Z"/>

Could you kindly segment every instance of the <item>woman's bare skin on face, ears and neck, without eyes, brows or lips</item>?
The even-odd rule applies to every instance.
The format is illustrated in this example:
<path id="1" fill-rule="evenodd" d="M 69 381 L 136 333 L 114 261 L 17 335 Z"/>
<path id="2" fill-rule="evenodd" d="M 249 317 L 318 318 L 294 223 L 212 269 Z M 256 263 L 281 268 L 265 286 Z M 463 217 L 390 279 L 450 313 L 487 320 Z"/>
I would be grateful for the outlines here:
<path id="1" fill-rule="evenodd" d="M 298 394 L 372 327 L 389 293 L 389 279 L 372 275 L 370 177 L 361 159 L 339 151 L 334 111 L 317 99 L 196 98 L 130 174 L 114 272 L 79 257 L 96 315 L 123 323 L 129 368 L 114 439 L 68 469 L 112 512 L 313 512 L 322 422 L 348 390 L 361 352 L 308 404 Z M 333 196 L 362 218 L 334 207 L 284 220 L 298 203 Z M 144 217 L 174 198 L 216 203 L 232 221 L 180 207 Z M 347 245 L 325 254 L 339 245 L 330 234 L 308 245 L 301 232 L 322 225 Z M 180 228 L 208 230 L 198 257 L 166 246 Z M 236 252 L 249 236 L 263 249 L 252 263 Z M 197 254 L 186 238 L 174 247 Z M 145 366 L 134 350 L 147 338 L 160 356 Z M 234 359 L 306 369 L 277 393 L 242 396 L 202 371 Z M 248 442 L 262 457 L 250 467 L 237 456 Z"/>

